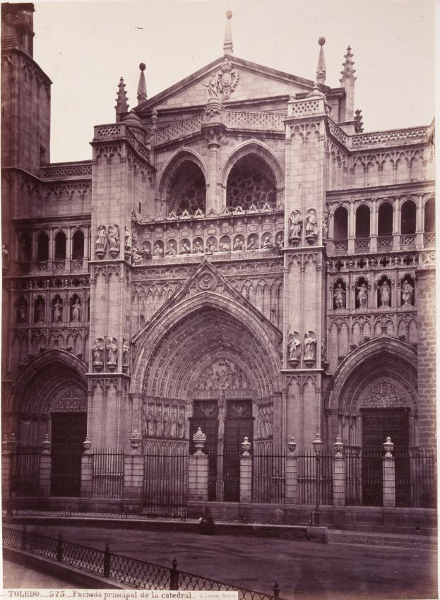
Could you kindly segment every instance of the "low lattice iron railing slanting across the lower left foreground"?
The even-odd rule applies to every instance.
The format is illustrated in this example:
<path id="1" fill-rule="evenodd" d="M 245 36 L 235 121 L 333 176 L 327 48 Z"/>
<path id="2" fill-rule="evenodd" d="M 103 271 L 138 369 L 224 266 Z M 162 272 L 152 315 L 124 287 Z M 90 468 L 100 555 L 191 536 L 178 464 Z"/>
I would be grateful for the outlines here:
<path id="1" fill-rule="evenodd" d="M 82 546 L 66 541 L 59 534 L 51 538 L 12 527 L 3 527 L 3 545 L 18 548 L 66 563 L 76 568 L 87 570 L 102 577 L 117 580 L 133 587 L 143 589 L 172 589 L 172 590 L 237 590 L 239 600 L 281 600 L 280 587 L 275 582 L 273 594 L 256 592 L 253 589 L 237 587 L 217 580 L 201 577 L 177 569 L 174 558 L 172 566 L 165 567 L 145 560 L 138 560 L 121 554 L 110 552 L 109 545 L 105 550 Z"/>

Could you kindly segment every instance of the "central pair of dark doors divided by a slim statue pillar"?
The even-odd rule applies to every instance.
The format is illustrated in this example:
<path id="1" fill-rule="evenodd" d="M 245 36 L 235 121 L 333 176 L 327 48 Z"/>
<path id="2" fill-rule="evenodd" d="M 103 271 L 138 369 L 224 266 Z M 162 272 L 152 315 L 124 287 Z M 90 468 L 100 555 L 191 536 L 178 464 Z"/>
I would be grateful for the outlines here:
<path id="1" fill-rule="evenodd" d="M 220 392 L 216 399 L 194 400 L 193 414 L 191 443 L 198 427 L 206 433 L 208 500 L 239 502 L 242 441 L 246 436 L 252 443 L 254 433 L 251 399 L 225 398 Z"/>

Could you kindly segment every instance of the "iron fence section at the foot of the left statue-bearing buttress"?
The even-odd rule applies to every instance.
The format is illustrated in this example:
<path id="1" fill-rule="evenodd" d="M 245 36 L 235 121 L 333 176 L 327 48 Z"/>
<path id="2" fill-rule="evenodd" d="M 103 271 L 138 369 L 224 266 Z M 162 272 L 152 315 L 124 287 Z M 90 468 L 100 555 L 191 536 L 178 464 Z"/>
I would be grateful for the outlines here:
<path id="1" fill-rule="evenodd" d="M 124 452 L 100 450 L 93 454 L 93 498 L 122 498 Z"/>

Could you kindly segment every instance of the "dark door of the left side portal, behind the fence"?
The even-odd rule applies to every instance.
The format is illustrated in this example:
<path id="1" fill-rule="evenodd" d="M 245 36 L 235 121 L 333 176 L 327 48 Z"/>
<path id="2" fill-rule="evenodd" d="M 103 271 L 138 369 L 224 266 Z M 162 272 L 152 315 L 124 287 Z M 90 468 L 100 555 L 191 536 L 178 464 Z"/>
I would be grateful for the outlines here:
<path id="1" fill-rule="evenodd" d="M 52 496 L 80 496 L 86 434 L 86 413 L 52 413 Z"/>

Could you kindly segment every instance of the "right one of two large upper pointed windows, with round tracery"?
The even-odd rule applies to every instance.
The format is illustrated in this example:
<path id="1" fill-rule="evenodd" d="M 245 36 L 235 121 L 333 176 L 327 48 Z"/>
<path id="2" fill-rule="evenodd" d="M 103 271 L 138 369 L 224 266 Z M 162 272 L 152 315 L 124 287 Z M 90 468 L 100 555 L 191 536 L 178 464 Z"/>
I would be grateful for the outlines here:
<path id="1" fill-rule="evenodd" d="M 246 155 L 234 164 L 227 178 L 227 208 L 263 208 L 266 203 L 274 208 L 277 203 L 273 172 L 259 156 Z"/>

